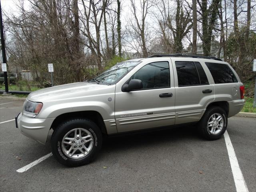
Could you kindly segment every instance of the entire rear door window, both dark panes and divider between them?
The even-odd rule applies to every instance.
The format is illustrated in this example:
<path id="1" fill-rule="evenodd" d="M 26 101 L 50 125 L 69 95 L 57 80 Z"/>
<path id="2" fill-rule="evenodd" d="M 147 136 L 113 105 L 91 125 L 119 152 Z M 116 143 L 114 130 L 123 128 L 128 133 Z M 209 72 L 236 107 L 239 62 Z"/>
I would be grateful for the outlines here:
<path id="1" fill-rule="evenodd" d="M 199 62 L 176 61 L 175 66 L 178 75 L 178 86 L 209 84 L 204 69 Z"/>

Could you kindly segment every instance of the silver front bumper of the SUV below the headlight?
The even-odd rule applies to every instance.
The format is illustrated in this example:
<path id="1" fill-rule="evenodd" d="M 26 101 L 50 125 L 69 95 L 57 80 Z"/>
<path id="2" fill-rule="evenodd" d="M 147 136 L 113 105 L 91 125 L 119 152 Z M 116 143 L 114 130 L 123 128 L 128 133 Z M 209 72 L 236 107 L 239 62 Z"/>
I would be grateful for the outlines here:
<path id="1" fill-rule="evenodd" d="M 16 127 L 25 136 L 42 144 L 46 143 L 49 130 L 55 118 L 29 118 L 22 113 L 15 117 Z"/>

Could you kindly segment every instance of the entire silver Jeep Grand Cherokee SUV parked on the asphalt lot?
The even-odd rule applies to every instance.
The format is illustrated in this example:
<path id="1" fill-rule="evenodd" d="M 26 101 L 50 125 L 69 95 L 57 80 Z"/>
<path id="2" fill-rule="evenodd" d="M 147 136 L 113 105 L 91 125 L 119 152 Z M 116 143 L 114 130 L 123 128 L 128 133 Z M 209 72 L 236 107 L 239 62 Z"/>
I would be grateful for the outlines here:
<path id="1" fill-rule="evenodd" d="M 197 123 L 216 140 L 244 106 L 234 69 L 214 57 L 155 55 L 121 62 L 99 76 L 29 94 L 16 116 L 22 134 L 45 144 L 66 166 L 88 164 L 102 135 Z"/>

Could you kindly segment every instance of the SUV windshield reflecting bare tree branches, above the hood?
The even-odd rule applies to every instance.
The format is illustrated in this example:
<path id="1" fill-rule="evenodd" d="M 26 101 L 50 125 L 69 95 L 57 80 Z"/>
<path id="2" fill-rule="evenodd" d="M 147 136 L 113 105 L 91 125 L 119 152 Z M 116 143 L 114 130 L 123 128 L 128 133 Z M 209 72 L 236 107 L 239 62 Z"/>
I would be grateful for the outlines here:
<path id="1" fill-rule="evenodd" d="M 96 82 L 98 84 L 115 84 L 139 63 L 140 62 L 138 61 L 120 62 L 97 77 L 89 80 L 89 82 Z"/>

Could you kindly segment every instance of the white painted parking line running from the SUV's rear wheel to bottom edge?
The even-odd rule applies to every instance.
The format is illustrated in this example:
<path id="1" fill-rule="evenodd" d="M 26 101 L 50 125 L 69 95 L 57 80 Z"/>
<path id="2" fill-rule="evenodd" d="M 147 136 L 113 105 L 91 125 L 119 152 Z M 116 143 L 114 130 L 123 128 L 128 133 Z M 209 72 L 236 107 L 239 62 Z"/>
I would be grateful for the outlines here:
<path id="1" fill-rule="evenodd" d="M 236 185 L 236 191 L 237 192 L 248 192 L 248 188 L 246 186 L 246 182 L 244 180 L 244 176 L 242 174 L 242 171 L 239 167 L 238 160 L 236 158 L 236 153 L 234 151 L 234 148 L 232 146 L 230 137 L 228 135 L 228 132 L 226 131 L 224 133 L 224 138 L 228 150 L 228 156 L 230 161 L 231 170 L 234 177 L 234 182 Z"/>

